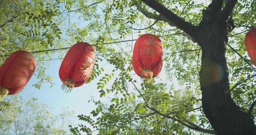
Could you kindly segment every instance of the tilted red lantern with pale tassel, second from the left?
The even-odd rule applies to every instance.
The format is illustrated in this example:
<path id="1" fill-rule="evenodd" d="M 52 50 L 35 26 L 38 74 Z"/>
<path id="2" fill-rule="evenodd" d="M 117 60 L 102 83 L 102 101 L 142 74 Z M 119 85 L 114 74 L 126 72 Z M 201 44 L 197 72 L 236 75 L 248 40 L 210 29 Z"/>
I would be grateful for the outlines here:
<path id="1" fill-rule="evenodd" d="M 71 91 L 83 85 L 90 77 L 96 60 L 94 48 L 88 43 L 74 44 L 60 65 L 62 90 Z"/>

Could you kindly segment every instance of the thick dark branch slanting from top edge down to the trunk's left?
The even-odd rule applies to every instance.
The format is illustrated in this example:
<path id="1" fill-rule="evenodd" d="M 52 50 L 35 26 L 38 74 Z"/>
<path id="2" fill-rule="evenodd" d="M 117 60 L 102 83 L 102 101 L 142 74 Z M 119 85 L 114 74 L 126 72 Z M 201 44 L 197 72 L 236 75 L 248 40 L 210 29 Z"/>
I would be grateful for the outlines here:
<path id="1" fill-rule="evenodd" d="M 172 26 L 175 26 L 176 28 L 183 30 L 189 36 L 193 37 L 194 35 L 193 30 L 195 28 L 194 25 L 184 21 L 175 13 L 173 13 L 172 11 L 170 11 L 169 9 L 165 8 L 163 5 L 158 3 L 156 0 L 142 0 L 142 1 L 145 4 L 147 4 L 149 7 L 156 10 L 156 12 L 159 12 L 161 16 L 164 16 L 164 18 L 166 18 L 168 20 L 168 23 L 171 23 Z"/>

